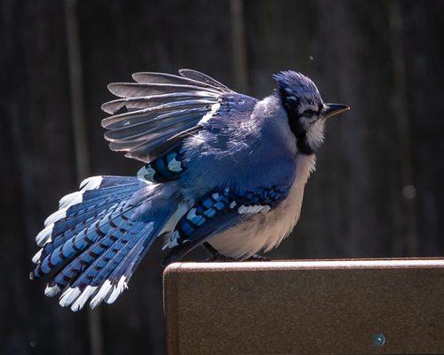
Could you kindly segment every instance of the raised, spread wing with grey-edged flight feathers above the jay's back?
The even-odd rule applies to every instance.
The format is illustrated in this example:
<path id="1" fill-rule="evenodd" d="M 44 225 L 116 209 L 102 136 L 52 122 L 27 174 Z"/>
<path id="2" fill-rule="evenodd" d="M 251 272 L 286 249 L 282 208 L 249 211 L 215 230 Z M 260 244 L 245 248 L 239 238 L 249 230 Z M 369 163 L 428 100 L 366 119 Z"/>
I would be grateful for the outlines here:
<path id="1" fill-rule="evenodd" d="M 181 69 L 179 74 L 136 73 L 132 75 L 135 83 L 108 85 L 121 98 L 102 105 L 112 114 L 102 121 L 111 150 L 154 162 L 202 130 L 224 101 L 237 96 L 257 101 L 197 71 Z"/>

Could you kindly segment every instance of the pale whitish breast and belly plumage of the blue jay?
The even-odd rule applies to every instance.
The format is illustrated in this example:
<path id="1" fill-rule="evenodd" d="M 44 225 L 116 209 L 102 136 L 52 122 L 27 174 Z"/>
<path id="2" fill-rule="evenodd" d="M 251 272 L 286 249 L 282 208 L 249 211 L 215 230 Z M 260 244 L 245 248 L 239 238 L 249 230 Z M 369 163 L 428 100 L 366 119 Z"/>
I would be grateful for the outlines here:
<path id="1" fill-rule="evenodd" d="M 297 223 L 305 184 L 314 164 L 314 155 L 297 154 L 297 176 L 287 199 L 266 213 L 258 213 L 242 224 L 214 235 L 210 244 L 223 255 L 236 258 L 247 258 L 259 250 L 277 247 Z"/>

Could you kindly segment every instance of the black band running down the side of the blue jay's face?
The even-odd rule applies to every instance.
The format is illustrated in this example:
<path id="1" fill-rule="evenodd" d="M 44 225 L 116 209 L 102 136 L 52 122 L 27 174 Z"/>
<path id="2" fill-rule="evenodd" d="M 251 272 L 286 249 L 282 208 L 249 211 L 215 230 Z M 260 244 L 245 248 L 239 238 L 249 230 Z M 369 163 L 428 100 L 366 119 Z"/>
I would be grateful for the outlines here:
<path id="1" fill-rule="evenodd" d="M 289 128 L 296 137 L 297 151 L 305 155 L 314 154 L 313 148 L 307 143 L 306 131 L 300 120 L 303 114 L 297 113 L 297 106 L 299 105 L 300 100 L 295 96 L 289 96 L 289 92 L 285 91 L 282 87 L 279 88 L 279 93 L 282 105 L 289 117 Z"/>

